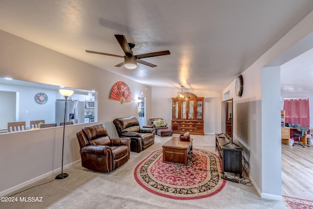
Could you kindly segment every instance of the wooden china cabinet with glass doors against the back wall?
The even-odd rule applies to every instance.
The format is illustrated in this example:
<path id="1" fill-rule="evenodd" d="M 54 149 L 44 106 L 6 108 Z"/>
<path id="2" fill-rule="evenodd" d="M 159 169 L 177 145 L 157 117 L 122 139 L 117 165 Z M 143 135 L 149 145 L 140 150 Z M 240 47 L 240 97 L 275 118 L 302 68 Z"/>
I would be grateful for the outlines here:
<path id="1" fill-rule="evenodd" d="M 186 98 L 172 98 L 172 130 L 175 134 L 189 132 L 204 135 L 203 98 L 186 92 Z"/>

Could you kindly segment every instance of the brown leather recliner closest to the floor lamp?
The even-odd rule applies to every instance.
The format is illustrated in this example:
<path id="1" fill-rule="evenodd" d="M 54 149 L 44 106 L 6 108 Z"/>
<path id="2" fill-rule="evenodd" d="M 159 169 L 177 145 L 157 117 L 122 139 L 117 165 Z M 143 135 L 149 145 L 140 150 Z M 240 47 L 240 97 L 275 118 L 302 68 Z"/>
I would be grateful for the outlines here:
<path id="1" fill-rule="evenodd" d="M 130 158 L 131 139 L 110 139 L 103 124 L 83 127 L 76 136 L 85 168 L 109 173 Z"/>

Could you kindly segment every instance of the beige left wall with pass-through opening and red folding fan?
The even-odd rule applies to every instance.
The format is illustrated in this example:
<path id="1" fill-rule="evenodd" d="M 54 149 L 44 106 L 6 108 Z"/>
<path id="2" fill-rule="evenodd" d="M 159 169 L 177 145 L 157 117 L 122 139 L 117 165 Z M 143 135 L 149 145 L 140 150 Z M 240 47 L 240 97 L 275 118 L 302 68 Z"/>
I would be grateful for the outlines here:
<path id="1" fill-rule="evenodd" d="M 95 90 L 98 93 L 98 122 L 104 123 L 111 137 L 117 137 L 112 120 L 136 116 L 137 103 L 110 99 L 112 86 L 124 81 L 137 98 L 139 90 L 151 106 L 151 87 L 99 69 L 43 46 L 0 31 L 0 76 L 18 80 Z M 91 76 L 90 76 L 91 75 Z M 68 78 L 71 79 L 68 79 Z M 147 89 L 147 90 L 146 90 Z M 151 117 L 147 110 L 147 118 Z M 80 160 L 76 132 L 86 124 L 67 126 L 64 165 Z M 62 127 L 20 133 L 0 134 L 0 196 L 51 173 L 60 172 Z"/>

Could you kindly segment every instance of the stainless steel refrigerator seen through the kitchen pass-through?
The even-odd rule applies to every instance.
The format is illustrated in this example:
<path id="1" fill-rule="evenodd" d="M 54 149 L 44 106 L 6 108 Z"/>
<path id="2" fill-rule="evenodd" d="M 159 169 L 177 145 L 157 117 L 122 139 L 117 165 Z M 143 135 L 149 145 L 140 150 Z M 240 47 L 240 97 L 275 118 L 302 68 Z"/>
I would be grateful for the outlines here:
<path id="1" fill-rule="evenodd" d="M 55 122 L 60 124 L 64 122 L 65 99 L 55 102 Z M 77 119 L 77 123 L 85 122 L 85 102 L 76 100 L 67 100 L 67 112 L 65 121 L 68 119 Z"/>

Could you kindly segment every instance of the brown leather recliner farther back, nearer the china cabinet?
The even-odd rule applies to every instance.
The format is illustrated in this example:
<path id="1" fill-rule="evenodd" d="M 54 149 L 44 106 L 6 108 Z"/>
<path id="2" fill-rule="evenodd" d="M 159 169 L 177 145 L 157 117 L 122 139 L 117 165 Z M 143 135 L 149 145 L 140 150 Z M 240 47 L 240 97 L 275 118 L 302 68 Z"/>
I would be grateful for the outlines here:
<path id="1" fill-rule="evenodd" d="M 141 152 L 155 143 L 153 128 L 140 128 L 136 117 L 122 117 L 113 120 L 119 137 L 131 138 L 131 151 Z"/>

